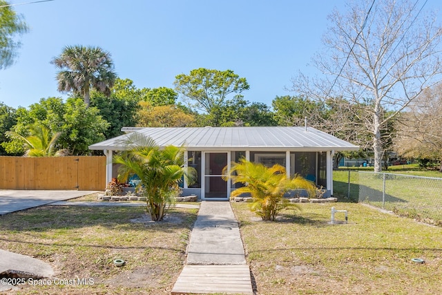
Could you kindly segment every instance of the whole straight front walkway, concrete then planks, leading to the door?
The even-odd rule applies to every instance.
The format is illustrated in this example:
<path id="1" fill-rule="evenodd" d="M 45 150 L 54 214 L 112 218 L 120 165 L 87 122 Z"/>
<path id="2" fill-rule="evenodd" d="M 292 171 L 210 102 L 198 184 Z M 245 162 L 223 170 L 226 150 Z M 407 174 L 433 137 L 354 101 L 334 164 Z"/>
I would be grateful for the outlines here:
<path id="1" fill-rule="evenodd" d="M 253 294 L 238 222 L 229 202 L 201 202 L 187 265 L 171 294 Z"/>

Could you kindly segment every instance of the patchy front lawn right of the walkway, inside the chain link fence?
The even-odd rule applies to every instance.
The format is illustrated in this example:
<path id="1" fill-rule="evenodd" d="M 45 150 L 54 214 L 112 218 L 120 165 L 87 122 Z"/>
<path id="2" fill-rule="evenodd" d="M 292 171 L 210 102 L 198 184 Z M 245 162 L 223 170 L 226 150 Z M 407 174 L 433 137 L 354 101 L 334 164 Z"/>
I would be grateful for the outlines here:
<path id="1" fill-rule="evenodd" d="M 362 204 L 300 205 L 264 222 L 232 203 L 257 294 L 442 294 L 440 227 Z M 331 207 L 349 223 L 327 224 Z"/>

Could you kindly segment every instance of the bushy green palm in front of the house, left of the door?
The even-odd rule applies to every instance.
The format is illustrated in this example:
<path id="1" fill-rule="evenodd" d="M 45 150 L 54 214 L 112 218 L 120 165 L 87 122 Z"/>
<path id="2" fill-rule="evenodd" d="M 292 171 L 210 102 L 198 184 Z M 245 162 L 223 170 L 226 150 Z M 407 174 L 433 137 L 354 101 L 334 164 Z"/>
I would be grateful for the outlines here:
<path id="1" fill-rule="evenodd" d="M 151 137 L 136 132 L 128 135 L 125 144 L 128 150 L 113 158 L 115 163 L 122 164 L 119 180 L 126 181 L 136 174 L 141 180 L 139 187 L 146 196 L 148 213 L 152 220 L 160 221 L 175 201 L 179 193 L 178 183 L 183 176 L 193 183 L 196 171 L 184 166 L 182 146 L 160 149 Z"/>

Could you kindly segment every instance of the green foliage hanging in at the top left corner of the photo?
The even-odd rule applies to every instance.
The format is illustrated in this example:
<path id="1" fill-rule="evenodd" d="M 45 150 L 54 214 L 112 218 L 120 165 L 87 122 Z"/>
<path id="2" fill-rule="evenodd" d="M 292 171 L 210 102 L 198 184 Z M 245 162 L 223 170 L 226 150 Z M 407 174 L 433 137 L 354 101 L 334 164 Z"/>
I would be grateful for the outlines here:
<path id="1" fill-rule="evenodd" d="M 21 16 L 8 5 L 8 1 L 0 0 L 0 69 L 14 63 L 17 49 L 21 46 L 16 36 L 28 32 Z"/>

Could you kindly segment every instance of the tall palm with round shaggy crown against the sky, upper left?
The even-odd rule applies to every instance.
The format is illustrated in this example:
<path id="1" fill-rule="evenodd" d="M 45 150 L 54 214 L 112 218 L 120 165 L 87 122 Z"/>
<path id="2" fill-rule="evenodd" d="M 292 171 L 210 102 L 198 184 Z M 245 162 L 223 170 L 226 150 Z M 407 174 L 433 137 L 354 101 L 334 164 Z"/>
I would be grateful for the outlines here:
<path id="1" fill-rule="evenodd" d="M 111 54 L 99 47 L 66 46 L 59 57 L 51 61 L 57 73 L 59 91 L 73 91 L 90 105 L 90 88 L 111 95 L 117 75 L 114 73 Z"/>

